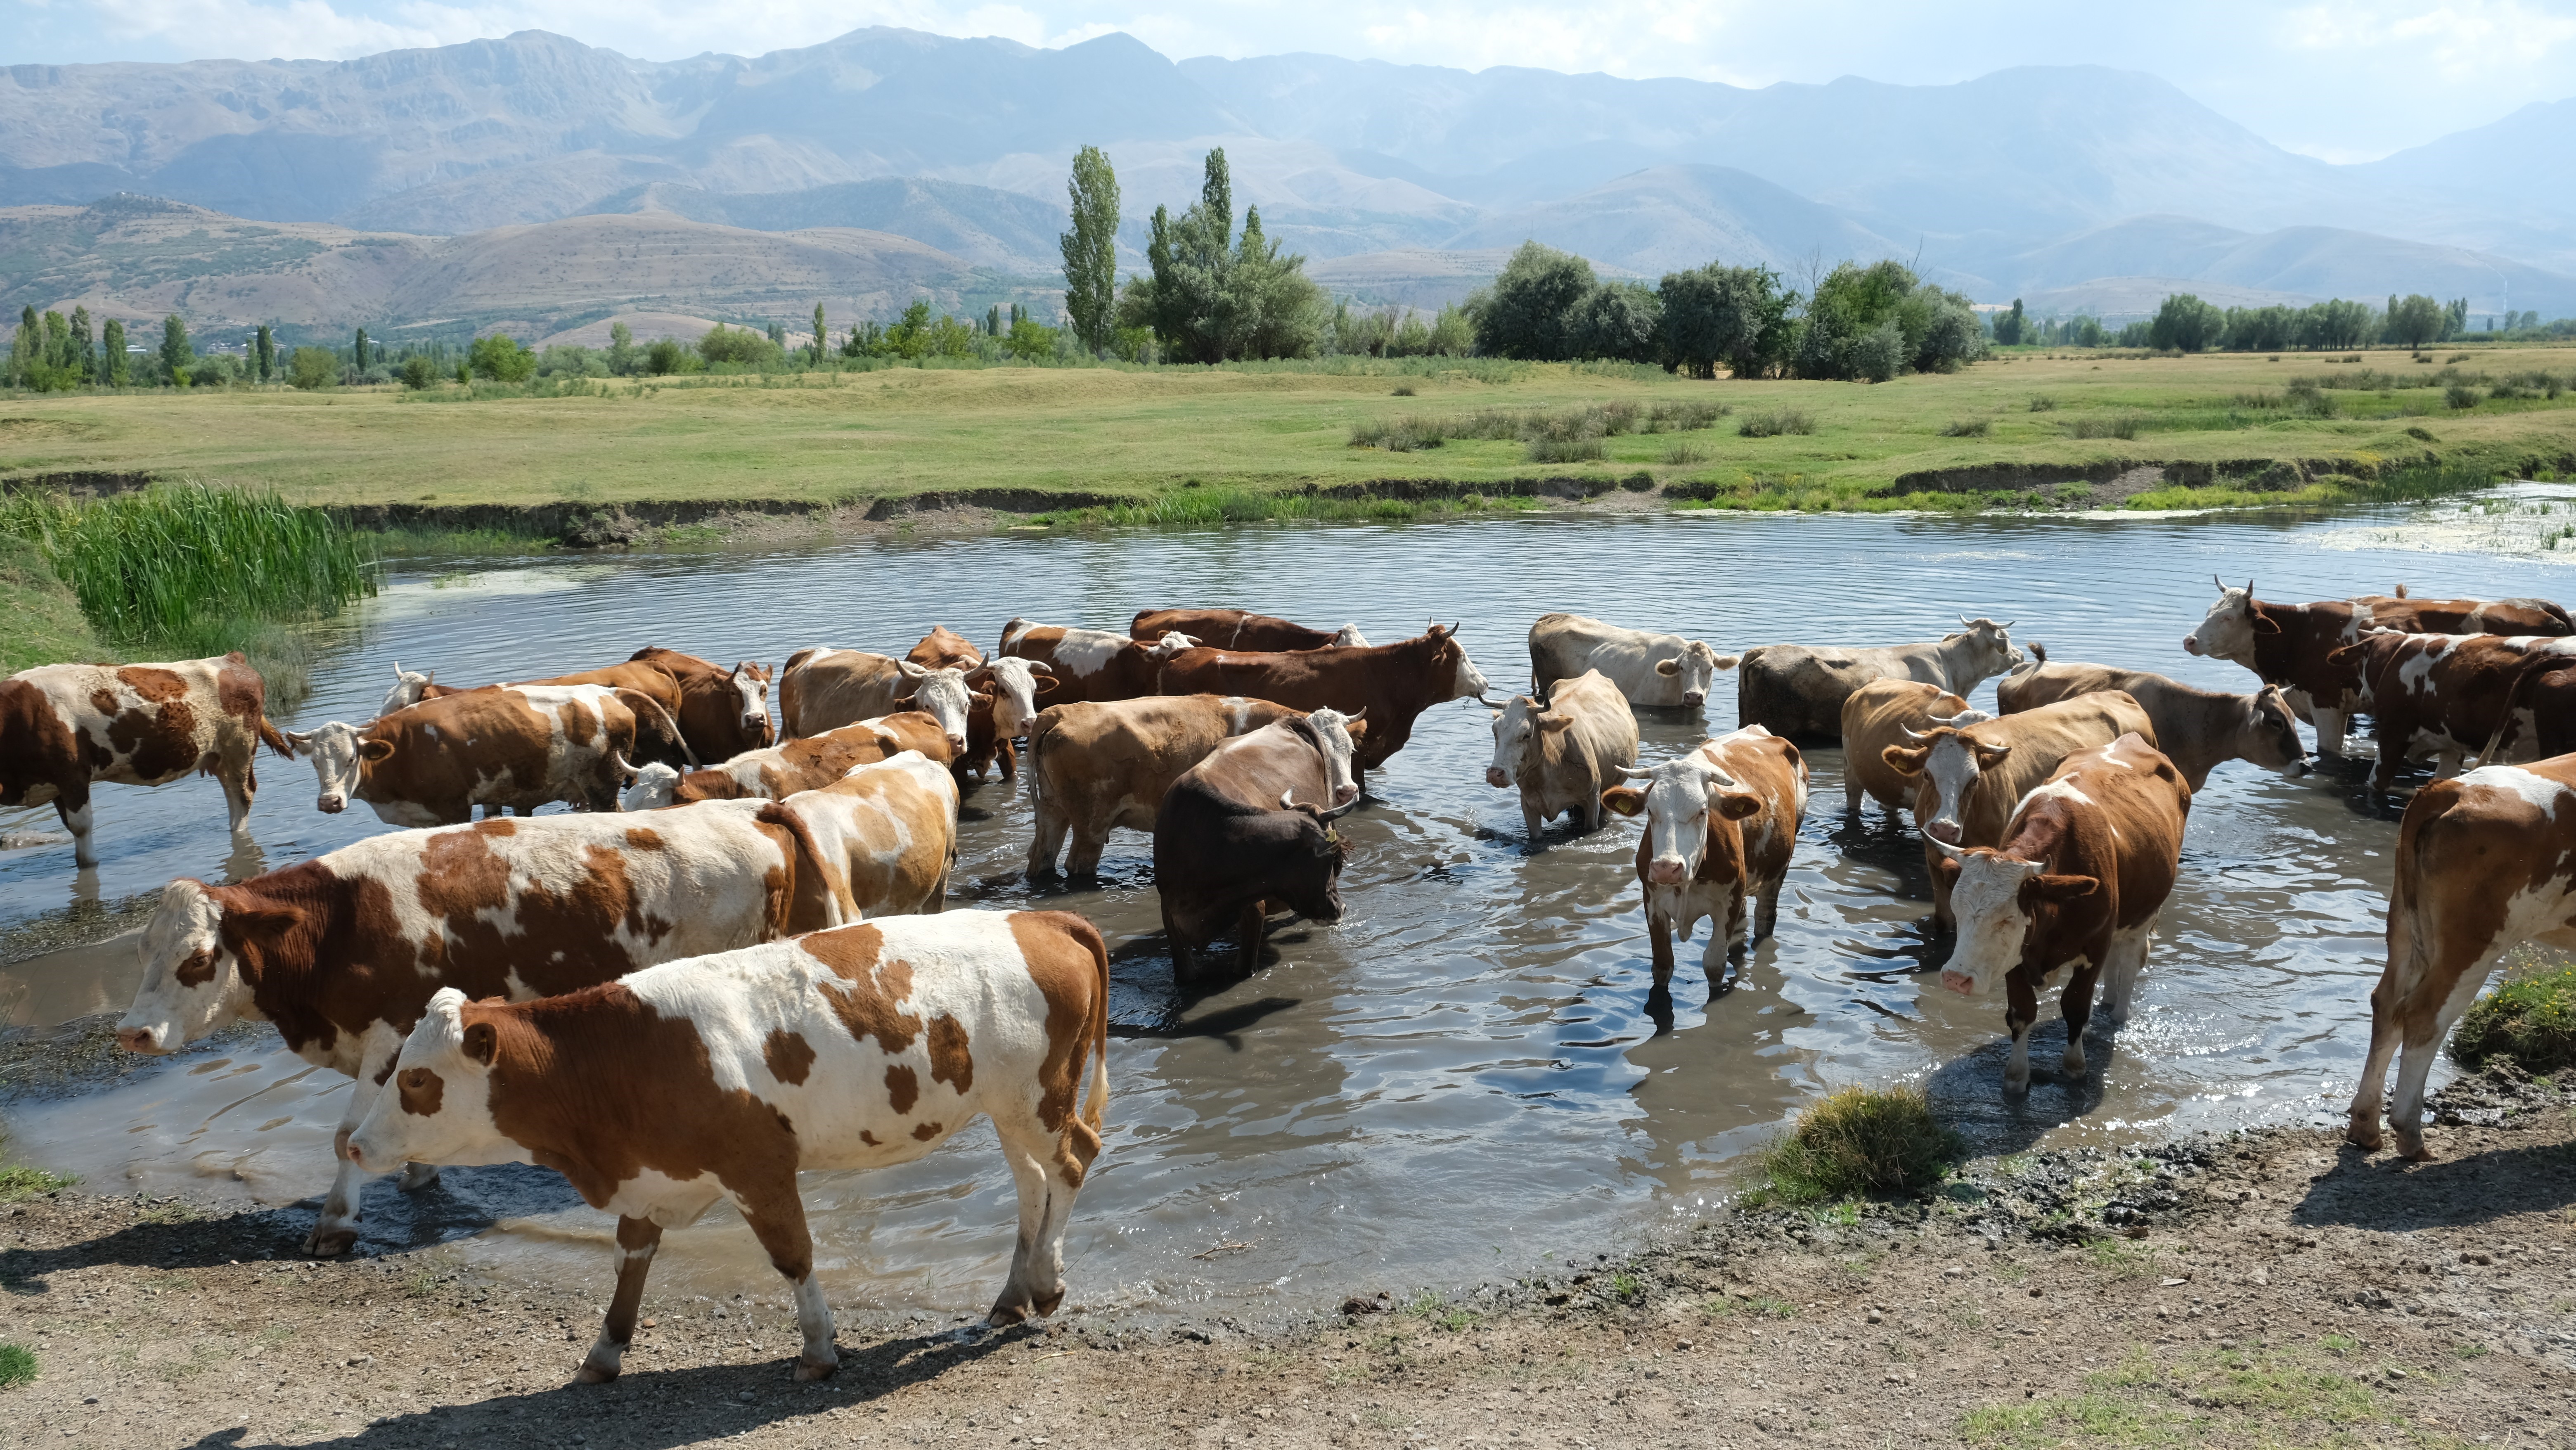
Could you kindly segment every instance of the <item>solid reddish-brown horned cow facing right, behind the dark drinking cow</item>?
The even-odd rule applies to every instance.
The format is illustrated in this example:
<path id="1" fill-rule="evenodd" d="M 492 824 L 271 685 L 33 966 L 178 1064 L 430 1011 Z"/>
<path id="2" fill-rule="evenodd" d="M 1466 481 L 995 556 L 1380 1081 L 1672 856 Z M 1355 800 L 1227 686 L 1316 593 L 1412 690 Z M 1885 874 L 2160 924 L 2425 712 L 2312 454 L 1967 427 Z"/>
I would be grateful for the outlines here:
<path id="1" fill-rule="evenodd" d="M 1162 667 L 1164 695 L 1252 695 L 1298 711 L 1368 716 L 1360 770 L 1386 765 L 1414 737 L 1414 719 L 1492 690 L 1458 644 L 1455 626 L 1430 626 L 1396 644 L 1280 654 L 1185 649 Z"/>

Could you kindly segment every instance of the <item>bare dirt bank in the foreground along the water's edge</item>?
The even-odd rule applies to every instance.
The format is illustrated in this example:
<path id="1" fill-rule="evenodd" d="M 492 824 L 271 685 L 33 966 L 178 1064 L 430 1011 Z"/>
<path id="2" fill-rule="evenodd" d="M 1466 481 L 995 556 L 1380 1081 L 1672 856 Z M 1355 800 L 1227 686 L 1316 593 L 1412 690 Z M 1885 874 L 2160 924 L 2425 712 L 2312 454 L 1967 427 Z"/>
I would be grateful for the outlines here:
<path id="1" fill-rule="evenodd" d="M 1973 1164 L 1932 1205 L 1736 1210 L 1592 1265 L 1303 1324 L 842 1316 L 778 1283 L 590 1290 L 446 1252 L 301 1262 L 307 1210 L 77 1190 L 0 1210 L 13 1445 L 2576 1445 L 2576 1100 L 2463 1079 L 2437 1162 L 2280 1128 Z"/>

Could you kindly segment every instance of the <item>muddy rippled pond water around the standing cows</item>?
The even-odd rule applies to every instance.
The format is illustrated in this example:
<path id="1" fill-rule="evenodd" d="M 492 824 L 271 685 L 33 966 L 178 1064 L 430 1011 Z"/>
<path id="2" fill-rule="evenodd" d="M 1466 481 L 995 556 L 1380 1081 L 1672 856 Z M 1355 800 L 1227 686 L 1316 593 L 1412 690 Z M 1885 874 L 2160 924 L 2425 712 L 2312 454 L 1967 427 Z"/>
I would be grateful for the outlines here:
<path id="1" fill-rule="evenodd" d="M 2545 507 L 2545 505 L 2543 505 Z M 2388 510 L 2339 520 L 1623 518 L 1425 528 L 1244 528 L 873 541 L 786 554 L 474 564 L 402 577 L 335 628 L 294 724 L 361 721 L 394 659 L 471 683 L 621 659 L 670 644 L 781 662 L 806 644 L 902 652 L 930 623 L 992 641 L 1002 621 L 1121 626 L 1136 605 L 1247 603 L 1386 641 L 1463 621 L 1497 685 L 1525 677 L 1525 631 L 1551 608 L 1662 623 L 1718 649 L 1937 636 L 1960 613 L 2020 621 L 2056 659 L 2102 659 L 2244 688 L 2179 641 L 2210 574 L 2267 598 L 2385 590 L 2563 595 L 2527 536 Z M 1991 685 L 1978 693 L 1991 703 Z M 1662 757 L 1734 726 L 1643 719 Z M 1252 979 L 1172 992 L 1149 840 L 1121 834 L 1097 889 L 1020 881 L 1028 806 L 971 791 L 958 904 L 1072 907 L 1115 950 L 1110 1146 L 1072 1234 L 1074 1295 L 1095 1306 L 1314 1303 L 1352 1285 L 1473 1280 L 1569 1252 L 1651 1213 L 1726 1192 L 1747 1146 L 1803 1097 L 1922 1079 L 1989 1149 L 2128 1141 L 2143 1125 L 2331 1113 L 2349 1095 L 2378 974 L 2393 819 L 2357 775 L 2280 780 L 2221 767 L 2192 809 L 2184 878 L 2141 986 L 2141 1015 L 2092 1046 L 2079 1082 L 2045 1074 L 2007 1102 L 2002 1004 L 1937 989 L 1919 847 L 1875 806 L 1842 811 L 1842 760 L 1811 752 L 1814 811 L 1765 940 L 1723 989 L 1685 948 L 1669 1030 L 1646 1015 L 1636 827 L 1522 840 L 1517 801 L 1484 786 L 1473 706 L 1432 711 L 1345 822 L 1350 917 L 1288 927 Z M 222 829 L 214 783 L 106 788 L 106 863 L 0 855 L 0 943 L 80 935 L 100 904 L 178 873 L 276 868 L 381 829 L 319 816 L 301 765 L 265 762 L 255 850 Z M 18 827 L 0 819 L 0 832 Z M 31 824 L 44 824 L 33 819 Z M 1703 927 L 1705 930 L 1705 927 Z M 100 935 L 93 930 L 90 935 Z M 23 956 L 28 948 L 21 945 Z M 46 1022 L 118 1004 L 131 950 L 0 968 L 0 1012 Z M 283 1051 L 183 1059 L 139 1082 L 13 1113 L 15 1149 L 103 1190 L 224 1190 L 283 1203 L 327 1182 L 348 1082 Z M 981 1308 L 1010 1252 L 1010 1182 L 979 1128 L 881 1174 L 809 1174 L 835 1301 Z M 379 1244 L 466 1236 L 513 1272 L 598 1280 L 605 1218 L 541 1169 L 451 1169 L 428 1195 L 368 1195 Z M 768 1293 L 750 1234 L 719 1210 L 677 1234 L 665 1290 Z"/>

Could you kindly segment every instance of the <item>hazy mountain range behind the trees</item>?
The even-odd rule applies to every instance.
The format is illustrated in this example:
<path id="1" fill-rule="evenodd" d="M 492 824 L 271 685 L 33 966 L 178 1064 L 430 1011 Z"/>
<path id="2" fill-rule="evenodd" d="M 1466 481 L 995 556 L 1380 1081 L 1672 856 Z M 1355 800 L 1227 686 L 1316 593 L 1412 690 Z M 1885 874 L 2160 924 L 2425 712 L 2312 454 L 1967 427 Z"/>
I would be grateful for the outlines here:
<path id="1" fill-rule="evenodd" d="M 1236 201 L 1363 301 L 1450 301 L 1535 237 L 1646 278 L 1728 260 L 1803 283 L 1842 258 L 1906 258 L 1978 301 L 2105 314 L 2182 286 L 2576 314 L 2571 124 L 2576 100 L 2530 106 L 2329 165 L 2105 67 L 1752 90 L 1316 54 L 1172 62 L 1123 33 L 1036 49 L 866 28 L 639 62 L 520 31 L 350 62 L 0 70 L 0 294 L 142 306 L 98 291 L 124 265 L 160 278 L 134 283 L 155 299 L 185 273 L 191 306 L 227 319 L 286 299 L 371 319 L 636 299 L 801 317 L 796 288 L 894 309 L 907 288 L 1018 296 L 1056 270 L 1079 144 L 1118 165 L 1128 265 L 1144 216 L 1195 198 L 1221 144 Z M 131 203 L 93 214 L 116 193 L 201 209 L 209 237 L 240 245 L 188 242 L 173 214 Z M 82 227 L 129 250 L 67 260 Z M 52 242 L 10 240 L 39 234 Z M 724 263 L 616 265 L 657 245 Z M 296 247 L 314 250 L 286 260 Z M 72 283 L 85 291 L 59 291 Z"/>

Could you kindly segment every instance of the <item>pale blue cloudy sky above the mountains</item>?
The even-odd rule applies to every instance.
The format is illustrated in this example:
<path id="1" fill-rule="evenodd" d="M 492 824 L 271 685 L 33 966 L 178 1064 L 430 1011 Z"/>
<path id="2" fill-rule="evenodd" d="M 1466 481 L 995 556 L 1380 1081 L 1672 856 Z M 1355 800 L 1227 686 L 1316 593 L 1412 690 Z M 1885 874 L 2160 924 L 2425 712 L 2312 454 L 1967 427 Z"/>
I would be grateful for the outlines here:
<path id="1" fill-rule="evenodd" d="M 2576 0 L 0 0 L 0 64 L 345 59 L 523 28 L 680 59 L 860 26 L 1033 46 L 1126 31 L 1172 59 L 1324 52 L 1731 85 L 2115 64 L 2331 162 L 2576 95 Z"/>

